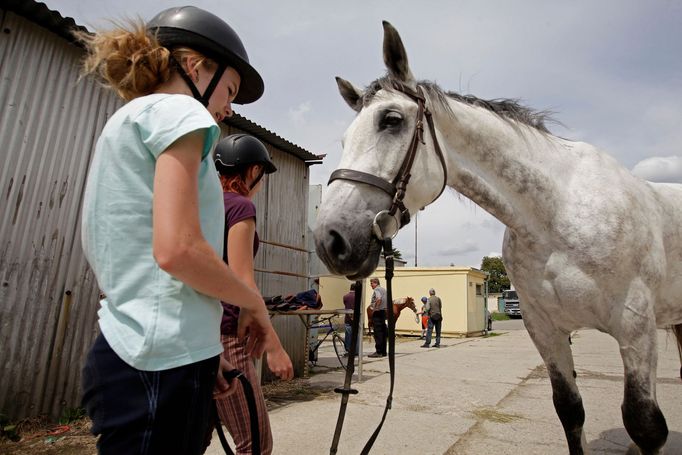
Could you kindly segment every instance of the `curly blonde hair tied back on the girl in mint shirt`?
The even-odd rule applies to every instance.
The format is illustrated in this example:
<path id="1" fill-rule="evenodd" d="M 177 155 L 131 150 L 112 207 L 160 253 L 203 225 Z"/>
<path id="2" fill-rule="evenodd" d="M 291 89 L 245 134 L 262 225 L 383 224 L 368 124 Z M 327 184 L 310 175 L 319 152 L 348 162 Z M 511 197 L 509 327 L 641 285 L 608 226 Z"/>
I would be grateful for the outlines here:
<path id="1" fill-rule="evenodd" d="M 215 63 L 186 47 L 169 50 L 151 35 L 142 19 L 114 23 L 111 30 L 96 34 L 75 32 L 87 52 L 82 75 L 95 75 L 102 84 L 126 101 L 149 95 L 177 71 L 171 56 L 182 62 L 195 56 L 209 67 Z"/>

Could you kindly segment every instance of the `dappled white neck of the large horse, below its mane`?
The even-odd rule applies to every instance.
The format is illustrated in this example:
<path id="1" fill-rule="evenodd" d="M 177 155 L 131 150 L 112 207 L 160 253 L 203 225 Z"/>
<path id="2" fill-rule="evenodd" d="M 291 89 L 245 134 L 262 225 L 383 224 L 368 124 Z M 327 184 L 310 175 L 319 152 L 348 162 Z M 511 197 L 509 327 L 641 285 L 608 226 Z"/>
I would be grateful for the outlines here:
<path id="1" fill-rule="evenodd" d="M 486 109 L 448 102 L 452 113 L 438 109 L 434 115 L 448 161 L 448 185 L 512 229 L 541 223 L 538 217 L 559 199 L 558 174 L 568 165 L 559 149 L 568 142 L 513 126 Z"/>

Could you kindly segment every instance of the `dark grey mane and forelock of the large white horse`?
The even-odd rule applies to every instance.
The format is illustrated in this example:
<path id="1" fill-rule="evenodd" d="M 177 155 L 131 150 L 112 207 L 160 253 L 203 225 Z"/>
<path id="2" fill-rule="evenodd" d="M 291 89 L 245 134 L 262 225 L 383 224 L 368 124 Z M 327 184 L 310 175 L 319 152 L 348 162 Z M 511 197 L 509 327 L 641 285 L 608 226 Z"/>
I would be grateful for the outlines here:
<path id="1" fill-rule="evenodd" d="M 363 106 L 369 104 L 379 90 L 395 90 L 393 83 L 394 79 L 390 76 L 384 76 L 372 82 L 362 95 Z M 535 128 L 542 133 L 549 133 L 549 130 L 545 126 L 546 122 L 555 122 L 555 120 L 552 119 L 552 112 L 546 110 L 533 110 L 527 106 L 523 106 L 517 99 L 498 98 L 494 100 L 484 100 L 474 95 L 460 95 L 455 92 L 446 92 L 437 84 L 430 81 L 418 81 L 417 84 L 430 95 L 431 99 L 436 100 L 441 107 L 451 114 L 452 110 L 447 103 L 448 99 L 453 99 L 471 106 L 482 107 L 503 119 L 514 120 Z"/>

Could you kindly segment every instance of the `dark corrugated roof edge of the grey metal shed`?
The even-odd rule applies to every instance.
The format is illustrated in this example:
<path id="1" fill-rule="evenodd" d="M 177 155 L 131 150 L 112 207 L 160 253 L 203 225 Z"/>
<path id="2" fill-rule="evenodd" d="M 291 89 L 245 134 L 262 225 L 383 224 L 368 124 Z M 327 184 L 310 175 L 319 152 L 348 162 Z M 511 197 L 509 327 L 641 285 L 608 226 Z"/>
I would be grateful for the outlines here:
<path id="1" fill-rule="evenodd" d="M 64 17 L 59 11 L 51 10 L 45 3 L 37 2 L 35 0 L 2 0 L 0 8 L 7 9 L 23 16 L 31 22 L 50 30 L 75 45 L 78 45 L 78 43 L 71 35 L 71 30 L 75 28 L 86 32 L 89 31 L 86 27 L 78 25 L 73 18 Z M 311 165 L 320 163 L 325 156 L 310 153 L 303 147 L 287 141 L 283 137 L 278 136 L 272 131 L 239 114 L 234 114 L 232 117 L 226 118 L 223 120 L 223 123 L 252 134 L 258 139 L 265 141 L 286 153 L 294 155 Z"/>

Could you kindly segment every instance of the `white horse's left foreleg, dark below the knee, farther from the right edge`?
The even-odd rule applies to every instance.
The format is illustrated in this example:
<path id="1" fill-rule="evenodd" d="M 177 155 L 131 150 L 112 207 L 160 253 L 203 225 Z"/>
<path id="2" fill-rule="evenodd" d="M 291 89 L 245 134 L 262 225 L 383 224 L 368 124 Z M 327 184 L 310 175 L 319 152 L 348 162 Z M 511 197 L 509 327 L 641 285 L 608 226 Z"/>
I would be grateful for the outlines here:
<path id="1" fill-rule="evenodd" d="M 541 330 L 534 330 L 530 319 L 524 314 L 528 333 L 547 366 L 554 409 L 564 428 L 569 453 L 583 455 L 587 446 L 583 432 L 585 409 L 575 382 L 569 334 L 550 326 L 547 321 L 542 322 Z"/>

